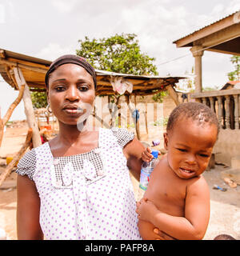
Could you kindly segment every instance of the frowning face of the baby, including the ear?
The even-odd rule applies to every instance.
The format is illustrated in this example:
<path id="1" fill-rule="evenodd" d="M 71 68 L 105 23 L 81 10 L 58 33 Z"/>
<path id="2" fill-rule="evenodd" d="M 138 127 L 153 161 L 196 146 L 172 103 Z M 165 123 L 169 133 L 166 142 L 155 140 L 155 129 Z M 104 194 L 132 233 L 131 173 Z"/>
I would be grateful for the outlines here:
<path id="1" fill-rule="evenodd" d="M 190 118 L 182 118 L 164 134 L 169 166 L 179 178 L 193 178 L 206 170 L 217 134 L 216 126 L 200 126 Z"/>

